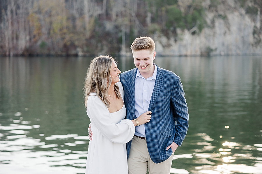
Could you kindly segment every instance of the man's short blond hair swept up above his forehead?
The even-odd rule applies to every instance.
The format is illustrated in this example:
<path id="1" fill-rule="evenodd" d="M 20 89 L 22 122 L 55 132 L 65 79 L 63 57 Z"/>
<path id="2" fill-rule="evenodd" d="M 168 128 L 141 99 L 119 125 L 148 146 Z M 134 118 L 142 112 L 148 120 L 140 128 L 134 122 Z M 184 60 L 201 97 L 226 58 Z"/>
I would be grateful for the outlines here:
<path id="1" fill-rule="evenodd" d="M 133 41 L 130 48 L 132 52 L 139 50 L 150 50 L 150 54 L 152 54 L 155 51 L 155 42 L 151 37 L 138 37 Z"/>

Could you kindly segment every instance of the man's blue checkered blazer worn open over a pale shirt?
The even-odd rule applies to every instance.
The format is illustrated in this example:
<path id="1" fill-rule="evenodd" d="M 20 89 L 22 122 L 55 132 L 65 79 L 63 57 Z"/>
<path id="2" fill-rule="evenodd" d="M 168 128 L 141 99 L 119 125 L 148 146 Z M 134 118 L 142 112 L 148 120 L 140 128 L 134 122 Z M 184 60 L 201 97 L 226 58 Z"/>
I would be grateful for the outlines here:
<path id="1" fill-rule="evenodd" d="M 135 78 L 137 68 L 121 73 L 124 88 L 127 119 L 135 119 Z M 188 129 L 188 108 L 180 77 L 157 66 L 155 86 L 148 110 L 150 122 L 145 124 L 146 144 L 154 163 L 160 163 L 172 155 L 166 148 L 172 142 L 181 146 Z M 126 144 L 129 156 L 132 140 Z"/>

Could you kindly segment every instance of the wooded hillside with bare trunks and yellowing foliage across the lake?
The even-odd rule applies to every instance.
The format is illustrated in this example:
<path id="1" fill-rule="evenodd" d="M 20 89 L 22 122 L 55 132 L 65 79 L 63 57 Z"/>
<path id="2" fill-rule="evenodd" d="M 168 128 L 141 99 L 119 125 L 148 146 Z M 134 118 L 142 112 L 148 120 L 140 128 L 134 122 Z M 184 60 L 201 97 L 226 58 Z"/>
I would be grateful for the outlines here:
<path id="1" fill-rule="evenodd" d="M 203 1 L 0 0 L 0 55 L 125 55 L 139 36 L 200 33 L 220 2 Z"/>

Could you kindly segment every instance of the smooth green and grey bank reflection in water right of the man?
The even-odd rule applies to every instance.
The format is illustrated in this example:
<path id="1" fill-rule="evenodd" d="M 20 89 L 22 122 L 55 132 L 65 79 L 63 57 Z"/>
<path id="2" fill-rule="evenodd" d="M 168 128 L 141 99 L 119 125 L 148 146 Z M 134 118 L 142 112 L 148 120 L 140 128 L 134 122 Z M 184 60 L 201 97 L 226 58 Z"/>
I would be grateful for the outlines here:
<path id="1" fill-rule="evenodd" d="M 181 77 L 191 116 L 189 132 L 198 130 L 218 140 L 219 135 L 223 140 L 236 137 L 247 144 L 258 141 L 260 57 L 176 57 L 163 58 L 162 64 Z"/>

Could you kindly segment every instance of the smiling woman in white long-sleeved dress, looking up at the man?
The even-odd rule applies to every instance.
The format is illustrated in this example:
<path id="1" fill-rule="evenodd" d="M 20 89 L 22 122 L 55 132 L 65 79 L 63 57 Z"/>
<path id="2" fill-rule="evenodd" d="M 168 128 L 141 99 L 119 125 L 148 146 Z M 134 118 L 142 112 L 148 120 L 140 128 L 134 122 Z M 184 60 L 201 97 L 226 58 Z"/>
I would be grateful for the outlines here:
<path id="1" fill-rule="evenodd" d="M 124 119 L 124 93 L 116 62 L 99 56 L 91 61 L 85 79 L 86 113 L 91 121 L 92 141 L 88 145 L 86 174 L 127 174 L 126 145 L 135 126 L 150 121 L 150 111 L 135 120 Z"/>

